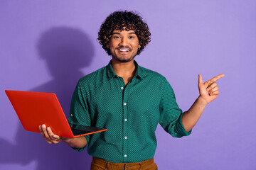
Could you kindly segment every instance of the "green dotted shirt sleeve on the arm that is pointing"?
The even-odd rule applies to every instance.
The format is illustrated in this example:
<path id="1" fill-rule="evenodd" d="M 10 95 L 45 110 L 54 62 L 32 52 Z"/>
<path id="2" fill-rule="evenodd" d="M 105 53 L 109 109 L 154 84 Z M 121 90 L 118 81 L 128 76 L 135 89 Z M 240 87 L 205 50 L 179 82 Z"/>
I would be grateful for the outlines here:
<path id="1" fill-rule="evenodd" d="M 182 111 L 178 108 L 174 90 L 165 79 L 160 101 L 160 125 L 173 137 L 183 137 L 191 134 L 186 132 L 182 124 Z"/>

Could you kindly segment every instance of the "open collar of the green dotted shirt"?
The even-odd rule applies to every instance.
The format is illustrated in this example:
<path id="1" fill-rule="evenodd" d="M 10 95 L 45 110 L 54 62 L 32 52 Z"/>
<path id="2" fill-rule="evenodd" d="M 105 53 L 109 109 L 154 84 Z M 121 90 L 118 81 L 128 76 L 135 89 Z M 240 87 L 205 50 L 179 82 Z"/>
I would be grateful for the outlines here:
<path id="1" fill-rule="evenodd" d="M 112 63 L 112 60 L 110 60 L 109 64 L 107 64 L 108 79 L 112 79 L 113 77 L 118 77 L 117 74 L 115 74 L 111 63 Z M 136 67 L 136 74 L 134 77 L 136 77 L 137 79 L 142 79 L 144 77 L 144 72 L 142 70 L 142 67 L 140 67 L 139 64 L 135 60 L 134 60 L 134 64 Z"/>

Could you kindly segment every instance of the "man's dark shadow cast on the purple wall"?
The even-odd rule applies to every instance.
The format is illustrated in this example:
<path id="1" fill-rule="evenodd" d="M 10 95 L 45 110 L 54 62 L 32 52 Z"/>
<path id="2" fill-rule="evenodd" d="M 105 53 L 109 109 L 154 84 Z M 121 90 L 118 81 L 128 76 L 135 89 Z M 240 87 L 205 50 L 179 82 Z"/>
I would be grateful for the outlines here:
<path id="1" fill-rule="evenodd" d="M 30 91 L 55 93 L 68 118 L 75 85 L 84 76 L 80 69 L 88 67 L 94 56 L 92 44 L 81 30 L 56 27 L 41 35 L 37 47 L 39 56 L 46 62 L 53 79 Z M 87 151 L 76 152 L 63 143 L 48 145 L 41 134 L 27 132 L 21 125 L 16 134 L 15 145 L 4 139 L 0 139 L 0 143 L 0 162 L 4 164 L 26 165 L 36 161 L 38 170 L 90 169 L 91 157 Z"/>

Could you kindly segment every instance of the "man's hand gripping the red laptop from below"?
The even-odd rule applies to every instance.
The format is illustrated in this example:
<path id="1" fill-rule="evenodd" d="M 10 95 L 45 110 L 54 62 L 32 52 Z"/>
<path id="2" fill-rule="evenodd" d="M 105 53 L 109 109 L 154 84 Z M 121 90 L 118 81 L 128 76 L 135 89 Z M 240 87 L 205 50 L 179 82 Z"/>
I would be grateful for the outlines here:
<path id="1" fill-rule="evenodd" d="M 59 142 L 68 142 L 68 140 L 71 139 L 69 137 L 60 137 L 58 135 L 55 135 L 53 131 L 50 129 L 50 127 L 46 127 L 46 125 L 39 125 L 39 130 L 43 138 L 49 144 L 58 144 Z"/>

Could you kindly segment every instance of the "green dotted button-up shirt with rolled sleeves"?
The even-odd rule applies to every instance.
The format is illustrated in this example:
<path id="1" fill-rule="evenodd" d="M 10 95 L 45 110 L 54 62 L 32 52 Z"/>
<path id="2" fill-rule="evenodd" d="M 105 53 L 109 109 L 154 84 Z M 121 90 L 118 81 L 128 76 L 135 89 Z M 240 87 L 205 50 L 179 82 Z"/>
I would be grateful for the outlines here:
<path id="1" fill-rule="evenodd" d="M 127 86 L 114 73 L 111 61 L 78 81 L 69 123 L 107 128 L 85 136 L 92 157 L 116 163 L 153 158 L 158 123 L 173 137 L 191 133 L 181 123 L 182 111 L 169 82 L 161 74 L 134 64 L 137 72 Z M 85 147 L 74 149 L 80 152 Z"/>

